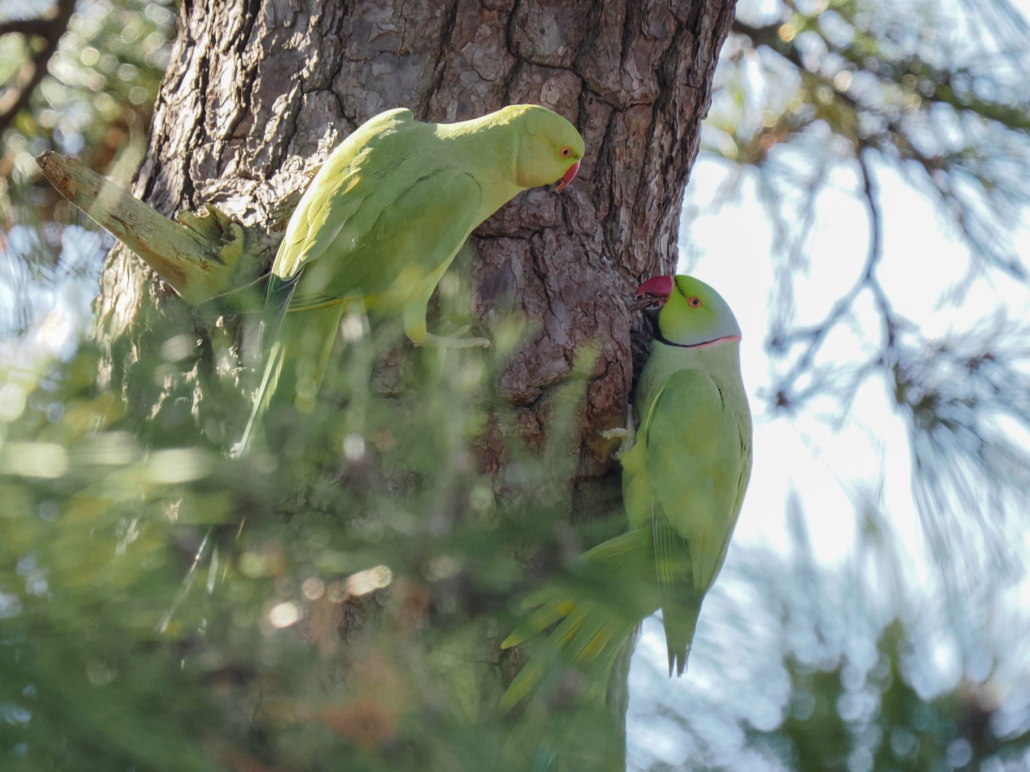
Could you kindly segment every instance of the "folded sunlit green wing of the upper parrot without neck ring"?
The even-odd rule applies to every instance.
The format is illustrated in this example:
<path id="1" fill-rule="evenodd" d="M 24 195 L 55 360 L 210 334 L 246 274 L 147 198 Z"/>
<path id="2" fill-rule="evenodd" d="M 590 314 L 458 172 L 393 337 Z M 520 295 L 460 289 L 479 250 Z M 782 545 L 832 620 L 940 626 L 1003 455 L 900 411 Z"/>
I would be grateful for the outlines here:
<path id="1" fill-rule="evenodd" d="M 272 266 L 279 282 L 297 281 L 288 310 L 388 289 L 427 301 L 438 269 L 479 224 L 482 203 L 478 182 L 459 171 L 464 160 L 448 152 L 410 110 L 377 116 L 334 150 Z"/>

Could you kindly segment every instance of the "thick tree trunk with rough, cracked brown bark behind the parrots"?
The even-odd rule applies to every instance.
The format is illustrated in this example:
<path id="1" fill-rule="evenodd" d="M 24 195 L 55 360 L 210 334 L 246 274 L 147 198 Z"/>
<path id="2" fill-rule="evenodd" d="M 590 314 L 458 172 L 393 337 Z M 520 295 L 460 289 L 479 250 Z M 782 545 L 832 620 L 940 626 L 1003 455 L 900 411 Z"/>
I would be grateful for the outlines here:
<path id="1" fill-rule="evenodd" d="M 733 9 L 734 0 L 183 0 L 133 191 L 168 216 L 215 204 L 271 258 L 314 170 L 376 113 L 404 106 L 452 121 L 524 102 L 556 110 L 586 142 L 579 176 L 558 195 L 520 195 L 476 231 L 475 310 L 490 331 L 495 309 L 539 324 L 497 385 L 530 448 L 577 351 L 597 344 L 576 484 L 612 479 L 595 430 L 625 420 L 626 299 L 638 279 L 676 266 L 683 190 Z M 214 394 L 242 372 L 236 334 L 204 327 L 121 246 L 95 308 L 102 380 L 147 416 L 140 431 L 199 423 L 226 445 L 239 425 L 229 413 L 242 407 Z M 130 378 L 176 337 L 187 355 L 168 357 L 174 374 Z M 218 413 L 225 403 L 232 410 Z M 495 426 L 480 446 L 483 468 L 503 473 Z"/>

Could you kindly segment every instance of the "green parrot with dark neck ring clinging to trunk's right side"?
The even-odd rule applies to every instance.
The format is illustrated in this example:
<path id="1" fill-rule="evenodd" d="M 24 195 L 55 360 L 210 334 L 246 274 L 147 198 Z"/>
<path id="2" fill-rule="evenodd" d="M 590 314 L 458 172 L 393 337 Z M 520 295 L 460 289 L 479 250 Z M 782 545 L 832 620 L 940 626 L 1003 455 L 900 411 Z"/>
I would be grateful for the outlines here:
<path id="1" fill-rule="evenodd" d="M 733 312 L 689 276 L 651 279 L 636 296 L 661 311 L 637 385 L 640 428 L 620 458 L 629 530 L 529 598 L 537 610 L 502 647 L 561 624 L 512 681 L 507 705 L 557 661 L 581 667 L 603 700 L 621 646 L 658 608 L 670 675 L 682 675 L 701 601 L 736 525 L 751 475 L 751 411 Z"/>

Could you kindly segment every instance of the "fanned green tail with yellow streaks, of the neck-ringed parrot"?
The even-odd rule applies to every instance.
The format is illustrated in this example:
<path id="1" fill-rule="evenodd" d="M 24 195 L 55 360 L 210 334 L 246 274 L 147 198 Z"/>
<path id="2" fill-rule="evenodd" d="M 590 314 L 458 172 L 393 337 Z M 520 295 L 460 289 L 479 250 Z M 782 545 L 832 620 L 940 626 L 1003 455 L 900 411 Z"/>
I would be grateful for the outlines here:
<path id="1" fill-rule="evenodd" d="M 629 661 L 640 623 L 663 607 L 683 658 L 689 650 L 699 603 L 673 598 L 658 582 L 650 525 L 605 541 L 582 555 L 565 575 L 552 581 L 523 604 L 533 610 L 501 644 L 518 645 L 556 625 L 501 700 L 509 709 L 536 693 L 526 713 L 538 715 L 533 772 L 609 772 L 625 769 L 625 709 Z M 686 602 L 682 602 L 686 601 Z M 579 688 L 572 697 L 555 691 L 566 679 Z M 549 699 L 559 695 L 555 707 Z"/>

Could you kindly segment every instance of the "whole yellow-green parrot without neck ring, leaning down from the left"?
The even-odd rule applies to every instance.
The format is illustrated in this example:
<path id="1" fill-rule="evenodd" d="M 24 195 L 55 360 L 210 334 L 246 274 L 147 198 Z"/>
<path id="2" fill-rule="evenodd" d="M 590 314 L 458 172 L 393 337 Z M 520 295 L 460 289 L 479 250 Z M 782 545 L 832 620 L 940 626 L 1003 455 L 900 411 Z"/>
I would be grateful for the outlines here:
<path id="1" fill-rule="evenodd" d="M 526 188 L 568 185 L 583 152 L 576 128 L 537 105 L 458 124 L 394 109 L 358 127 L 315 175 L 272 265 L 268 359 L 237 451 L 273 396 L 311 408 L 348 308 L 400 315 L 416 345 L 489 345 L 427 332 L 433 290 L 473 229 Z"/>

